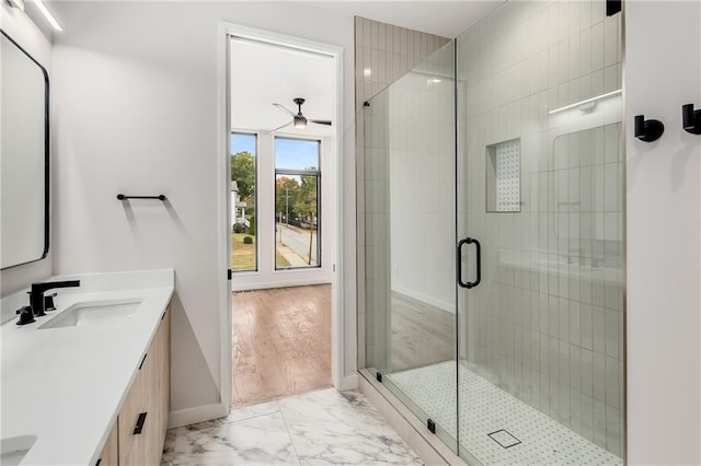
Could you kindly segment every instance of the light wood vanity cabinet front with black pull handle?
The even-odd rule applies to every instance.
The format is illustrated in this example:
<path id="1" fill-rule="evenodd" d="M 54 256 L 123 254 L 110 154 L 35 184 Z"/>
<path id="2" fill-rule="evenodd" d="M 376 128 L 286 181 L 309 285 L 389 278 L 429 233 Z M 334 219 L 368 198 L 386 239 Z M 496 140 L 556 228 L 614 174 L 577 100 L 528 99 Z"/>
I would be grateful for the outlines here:
<path id="1" fill-rule="evenodd" d="M 108 440 L 100 466 L 160 465 L 170 413 L 170 335 L 169 306 L 117 418 L 117 462 L 107 463 L 106 453 L 111 448 Z"/>

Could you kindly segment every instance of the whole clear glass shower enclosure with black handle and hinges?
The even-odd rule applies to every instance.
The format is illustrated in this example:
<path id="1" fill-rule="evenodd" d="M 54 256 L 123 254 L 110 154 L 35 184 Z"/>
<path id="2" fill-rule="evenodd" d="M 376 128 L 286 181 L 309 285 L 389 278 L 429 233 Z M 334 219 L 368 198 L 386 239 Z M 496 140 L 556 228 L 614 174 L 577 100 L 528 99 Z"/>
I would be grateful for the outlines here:
<path id="1" fill-rule="evenodd" d="M 621 28 L 510 1 L 364 107 L 365 366 L 468 462 L 623 462 Z"/>

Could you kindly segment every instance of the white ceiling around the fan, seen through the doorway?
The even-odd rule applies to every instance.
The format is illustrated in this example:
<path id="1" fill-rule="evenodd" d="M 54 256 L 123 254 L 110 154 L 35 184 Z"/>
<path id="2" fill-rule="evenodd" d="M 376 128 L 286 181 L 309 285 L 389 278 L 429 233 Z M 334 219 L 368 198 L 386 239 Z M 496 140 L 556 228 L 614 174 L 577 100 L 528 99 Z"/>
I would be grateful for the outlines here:
<path id="1" fill-rule="evenodd" d="M 334 60 L 244 39 L 231 39 L 231 129 L 268 131 L 292 120 L 278 103 L 297 114 L 295 97 L 306 98 L 302 113 L 311 119 L 333 119 L 336 92 Z M 309 123 L 292 125 L 277 133 L 323 137 L 332 128 Z"/>

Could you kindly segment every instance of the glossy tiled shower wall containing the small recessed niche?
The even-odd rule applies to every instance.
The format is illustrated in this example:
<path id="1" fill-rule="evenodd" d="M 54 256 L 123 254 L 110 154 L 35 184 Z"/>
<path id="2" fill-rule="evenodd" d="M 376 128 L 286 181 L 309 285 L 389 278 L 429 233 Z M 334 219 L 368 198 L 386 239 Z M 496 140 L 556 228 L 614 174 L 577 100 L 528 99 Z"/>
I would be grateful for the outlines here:
<path id="1" fill-rule="evenodd" d="M 462 229 L 483 242 L 461 354 L 622 454 L 621 14 L 508 2 L 458 39 Z M 485 147 L 521 138 L 521 212 L 486 213 Z M 462 159 L 462 156 L 459 156 Z M 496 234 L 498 232 L 498 234 Z M 467 295 L 466 295 L 467 298 Z"/>

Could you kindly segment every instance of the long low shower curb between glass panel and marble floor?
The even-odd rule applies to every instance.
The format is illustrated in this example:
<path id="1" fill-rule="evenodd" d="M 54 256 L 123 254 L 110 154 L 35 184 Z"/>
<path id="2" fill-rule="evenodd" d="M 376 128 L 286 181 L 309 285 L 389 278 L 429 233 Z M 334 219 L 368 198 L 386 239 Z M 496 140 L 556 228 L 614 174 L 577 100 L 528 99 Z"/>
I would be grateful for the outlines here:
<path id="1" fill-rule="evenodd" d="M 372 406 L 384 417 L 387 422 L 399 433 L 409 446 L 427 465 L 479 465 L 479 462 L 466 463 L 445 443 L 434 435 L 413 412 L 367 369 L 359 371 L 359 388 Z"/>

